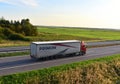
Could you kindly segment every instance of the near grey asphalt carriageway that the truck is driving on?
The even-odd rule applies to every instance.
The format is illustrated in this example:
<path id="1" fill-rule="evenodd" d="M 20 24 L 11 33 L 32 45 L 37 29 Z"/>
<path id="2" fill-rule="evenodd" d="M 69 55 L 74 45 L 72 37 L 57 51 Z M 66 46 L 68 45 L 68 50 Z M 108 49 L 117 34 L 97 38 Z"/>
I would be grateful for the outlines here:
<path id="1" fill-rule="evenodd" d="M 113 54 L 120 54 L 120 45 L 89 48 L 87 50 L 87 54 L 84 56 L 67 57 L 47 61 L 35 61 L 32 60 L 30 56 L 0 58 L 0 76 L 18 72 L 37 70 L 41 68 L 48 68 L 72 62 L 79 62 Z"/>

